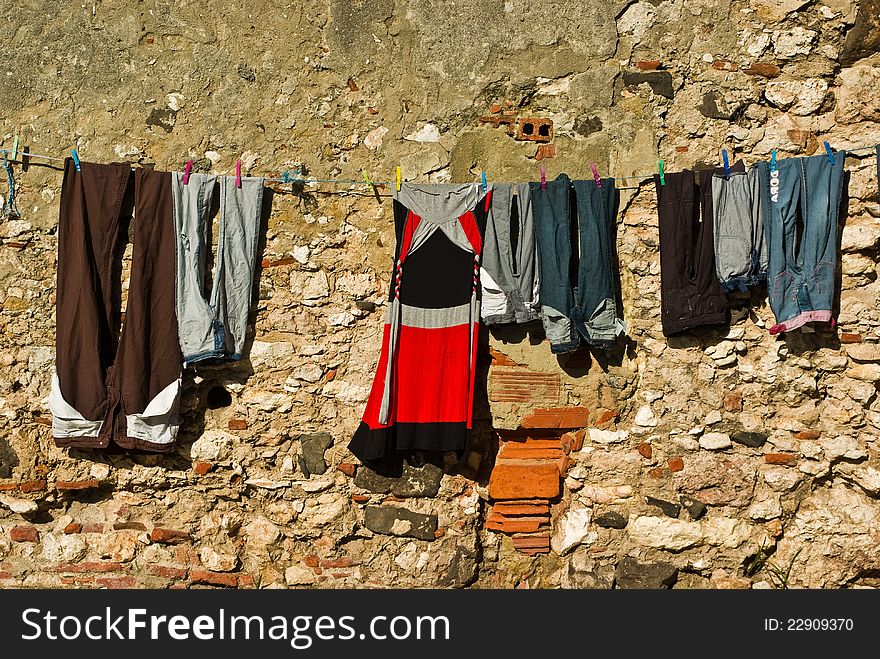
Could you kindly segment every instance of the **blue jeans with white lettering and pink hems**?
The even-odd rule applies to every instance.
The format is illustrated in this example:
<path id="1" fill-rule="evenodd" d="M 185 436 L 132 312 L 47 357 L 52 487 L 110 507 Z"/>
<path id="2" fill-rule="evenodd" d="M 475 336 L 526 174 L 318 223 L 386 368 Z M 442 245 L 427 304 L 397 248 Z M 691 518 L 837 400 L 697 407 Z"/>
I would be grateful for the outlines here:
<path id="1" fill-rule="evenodd" d="M 836 289 L 837 223 L 844 151 L 758 163 L 767 234 L 771 334 L 830 322 Z"/>

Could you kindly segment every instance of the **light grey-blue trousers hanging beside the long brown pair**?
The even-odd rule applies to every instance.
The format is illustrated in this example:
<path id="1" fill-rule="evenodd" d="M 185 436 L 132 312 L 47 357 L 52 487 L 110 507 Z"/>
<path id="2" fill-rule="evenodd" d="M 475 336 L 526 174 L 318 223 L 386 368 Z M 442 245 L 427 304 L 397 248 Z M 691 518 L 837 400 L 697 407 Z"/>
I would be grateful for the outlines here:
<path id="1" fill-rule="evenodd" d="M 172 174 L 177 229 L 177 324 L 187 364 L 241 359 L 253 299 L 263 179 Z M 210 277 L 212 207 L 220 189 L 220 223 Z M 209 287 L 210 284 L 210 287 Z M 206 297 L 210 291 L 210 298 Z"/>

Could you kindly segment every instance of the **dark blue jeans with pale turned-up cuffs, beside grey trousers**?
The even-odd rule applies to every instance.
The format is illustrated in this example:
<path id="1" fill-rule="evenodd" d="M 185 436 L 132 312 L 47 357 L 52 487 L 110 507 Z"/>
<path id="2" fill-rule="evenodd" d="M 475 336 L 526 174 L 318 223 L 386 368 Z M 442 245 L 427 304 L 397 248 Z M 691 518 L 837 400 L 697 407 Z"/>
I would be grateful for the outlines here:
<path id="1" fill-rule="evenodd" d="M 547 181 L 546 190 L 540 183 L 529 186 L 541 273 L 541 321 L 551 351 L 570 352 L 581 340 L 610 347 L 626 330 L 614 280 L 614 179 L 602 179 L 600 187 L 595 180 L 572 181 L 560 174 Z"/>

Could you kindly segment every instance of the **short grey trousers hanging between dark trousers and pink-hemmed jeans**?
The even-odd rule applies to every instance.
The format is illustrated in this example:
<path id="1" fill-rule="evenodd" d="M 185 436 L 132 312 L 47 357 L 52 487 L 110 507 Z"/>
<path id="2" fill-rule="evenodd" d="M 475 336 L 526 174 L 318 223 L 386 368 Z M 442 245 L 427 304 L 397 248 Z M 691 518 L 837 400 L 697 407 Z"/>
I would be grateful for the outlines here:
<path id="1" fill-rule="evenodd" d="M 767 242 L 758 170 L 712 177 L 715 272 L 724 292 L 747 291 L 767 280 Z"/>

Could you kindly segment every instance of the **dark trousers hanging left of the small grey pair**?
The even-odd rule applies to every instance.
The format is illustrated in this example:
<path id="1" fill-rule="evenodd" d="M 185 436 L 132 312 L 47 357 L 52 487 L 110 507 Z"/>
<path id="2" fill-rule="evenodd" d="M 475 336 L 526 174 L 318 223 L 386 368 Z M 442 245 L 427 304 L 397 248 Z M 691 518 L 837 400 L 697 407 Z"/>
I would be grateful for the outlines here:
<path id="1" fill-rule="evenodd" d="M 741 161 L 731 172 L 745 172 Z M 712 177 L 723 168 L 667 173 L 657 189 L 660 222 L 660 319 L 663 335 L 728 322 L 727 297 L 715 267 Z"/>

